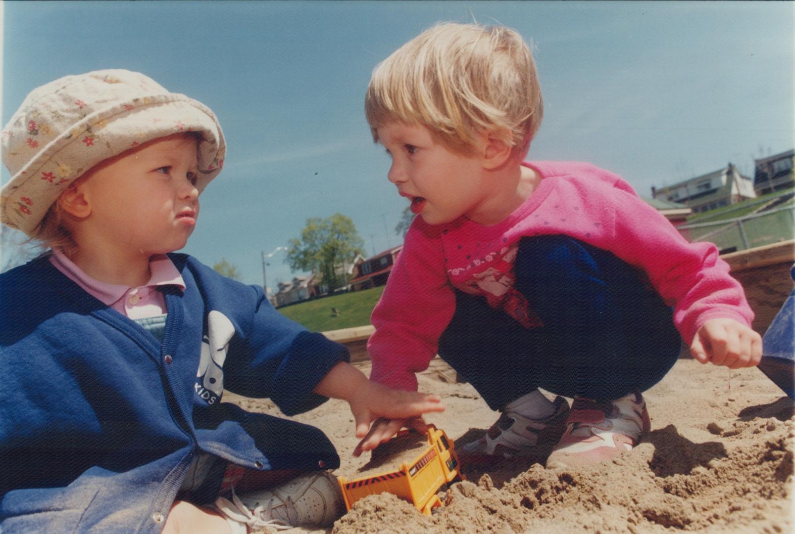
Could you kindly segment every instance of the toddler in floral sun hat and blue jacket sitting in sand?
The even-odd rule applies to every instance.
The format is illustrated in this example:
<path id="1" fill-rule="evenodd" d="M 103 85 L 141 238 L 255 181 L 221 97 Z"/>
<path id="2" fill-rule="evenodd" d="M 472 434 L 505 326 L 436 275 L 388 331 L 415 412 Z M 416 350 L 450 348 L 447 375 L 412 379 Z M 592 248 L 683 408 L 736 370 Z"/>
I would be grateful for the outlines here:
<path id="1" fill-rule="evenodd" d="M 443 409 L 174 253 L 225 152 L 211 110 L 123 70 L 38 87 L 2 131 L 0 220 L 46 252 L 0 275 L 0 530 L 326 525 L 344 510 L 332 443 L 224 389 L 287 415 L 343 398 L 359 437 Z"/>

